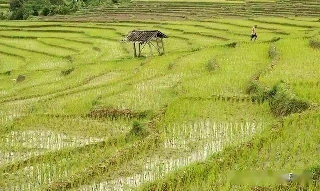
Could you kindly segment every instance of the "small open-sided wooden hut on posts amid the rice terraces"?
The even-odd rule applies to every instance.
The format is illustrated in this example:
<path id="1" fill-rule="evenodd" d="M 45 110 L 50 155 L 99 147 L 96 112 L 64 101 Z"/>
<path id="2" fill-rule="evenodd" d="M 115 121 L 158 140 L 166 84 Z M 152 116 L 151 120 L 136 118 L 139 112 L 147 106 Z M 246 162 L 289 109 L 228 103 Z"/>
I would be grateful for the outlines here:
<path id="1" fill-rule="evenodd" d="M 159 30 L 133 30 L 122 39 L 122 42 L 133 43 L 134 57 L 136 57 L 141 56 L 141 51 L 146 44 L 149 45 L 151 55 L 151 46 L 153 46 L 159 52 L 159 54 L 161 54 L 159 43 L 162 44 L 162 52 L 164 53 L 163 38 L 168 38 L 168 36 Z M 156 46 L 151 42 L 151 40 L 156 42 Z M 136 53 L 136 43 L 138 44 L 138 54 Z"/>

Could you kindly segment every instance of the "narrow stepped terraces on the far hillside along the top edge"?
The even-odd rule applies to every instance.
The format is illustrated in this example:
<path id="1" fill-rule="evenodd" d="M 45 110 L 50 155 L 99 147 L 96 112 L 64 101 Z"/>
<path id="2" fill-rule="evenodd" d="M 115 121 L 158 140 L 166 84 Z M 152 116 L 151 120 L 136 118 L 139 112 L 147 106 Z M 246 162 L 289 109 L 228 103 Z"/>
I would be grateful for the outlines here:
<path id="1" fill-rule="evenodd" d="M 130 1 L 114 5 L 93 6 L 66 16 L 53 16 L 49 20 L 123 20 L 161 19 L 190 20 L 211 19 L 223 16 L 236 17 L 292 17 L 320 16 L 317 0 L 274 0 L 274 1 L 228 1 L 228 0 L 183 0 L 183 1 Z"/>

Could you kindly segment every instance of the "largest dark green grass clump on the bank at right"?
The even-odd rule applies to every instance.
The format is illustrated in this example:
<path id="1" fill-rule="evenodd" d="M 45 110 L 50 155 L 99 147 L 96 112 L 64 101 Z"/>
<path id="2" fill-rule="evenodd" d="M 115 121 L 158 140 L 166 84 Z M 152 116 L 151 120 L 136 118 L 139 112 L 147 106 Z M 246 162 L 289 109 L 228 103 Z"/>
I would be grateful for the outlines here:
<path id="1" fill-rule="evenodd" d="M 290 87 L 283 81 L 277 83 L 269 91 L 270 109 L 274 116 L 283 117 L 307 110 L 311 104 L 294 95 Z"/>

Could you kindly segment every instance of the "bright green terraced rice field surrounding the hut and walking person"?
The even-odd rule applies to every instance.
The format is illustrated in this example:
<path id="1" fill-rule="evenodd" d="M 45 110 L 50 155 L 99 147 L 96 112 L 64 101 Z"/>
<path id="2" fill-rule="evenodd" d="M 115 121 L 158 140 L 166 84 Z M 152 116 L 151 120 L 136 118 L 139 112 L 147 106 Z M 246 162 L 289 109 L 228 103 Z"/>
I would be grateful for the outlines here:
<path id="1" fill-rule="evenodd" d="M 0 22 L 0 190 L 278 189 L 229 184 L 228 170 L 318 178 L 320 23 L 296 19 Z M 165 54 L 133 58 L 121 43 L 133 29 L 167 34 Z"/>

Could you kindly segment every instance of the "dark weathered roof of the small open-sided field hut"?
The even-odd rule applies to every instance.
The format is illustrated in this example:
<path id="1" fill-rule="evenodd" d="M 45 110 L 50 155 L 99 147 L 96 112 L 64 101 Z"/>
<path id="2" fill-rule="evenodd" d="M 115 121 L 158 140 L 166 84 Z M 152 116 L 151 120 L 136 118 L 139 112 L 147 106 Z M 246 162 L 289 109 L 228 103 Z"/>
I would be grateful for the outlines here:
<path id="1" fill-rule="evenodd" d="M 154 37 L 167 38 L 168 36 L 159 30 L 133 30 L 122 39 L 122 42 L 148 43 Z"/>

